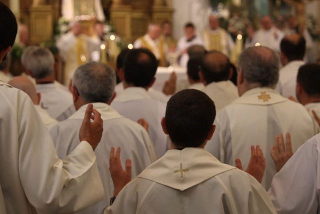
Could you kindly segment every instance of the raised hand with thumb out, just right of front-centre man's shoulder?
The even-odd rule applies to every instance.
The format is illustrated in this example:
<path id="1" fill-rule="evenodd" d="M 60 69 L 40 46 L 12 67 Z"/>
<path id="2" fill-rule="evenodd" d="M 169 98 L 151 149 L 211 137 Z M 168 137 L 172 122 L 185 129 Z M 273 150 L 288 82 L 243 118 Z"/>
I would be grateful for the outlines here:
<path id="1" fill-rule="evenodd" d="M 239 158 L 235 159 L 235 166 L 243 170 L 242 163 Z M 245 172 L 251 174 L 253 177 L 255 177 L 255 179 L 257 179 L 257 181 L 261 183 L 264 174 L 264 169 L 265 158 L 263 156 L 262 150 L 260 149 L 260 146 L 257 145 L 254 148 L 254 145 L 251 145 L 251 158 Z"/>

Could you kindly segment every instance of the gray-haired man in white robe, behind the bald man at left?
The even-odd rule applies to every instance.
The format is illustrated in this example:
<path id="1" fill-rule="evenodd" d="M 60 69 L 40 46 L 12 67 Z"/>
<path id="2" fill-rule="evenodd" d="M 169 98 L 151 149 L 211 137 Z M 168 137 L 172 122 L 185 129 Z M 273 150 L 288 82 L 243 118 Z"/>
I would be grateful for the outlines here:
<path id="1" fill-rule="evenodd" d="M 29 54 L 26 65 L 27 72 L 35 78 L 36 91 L 41 93 L 40 106 L 58 121 L 68 118 L 75 111 L 72 95 L 54 83 L 52 53 L 38 47 Z"/>

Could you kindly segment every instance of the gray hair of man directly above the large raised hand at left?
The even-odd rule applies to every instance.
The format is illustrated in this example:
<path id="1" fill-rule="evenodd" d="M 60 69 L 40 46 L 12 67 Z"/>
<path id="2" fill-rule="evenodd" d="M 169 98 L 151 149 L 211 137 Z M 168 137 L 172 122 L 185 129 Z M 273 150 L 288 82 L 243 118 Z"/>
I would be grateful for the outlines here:
<path id="1" fill-rule="evenodd" d="M 75 70 L 72 84 L 85 101 L 108 102 L 115 87 L 115 72 L 103 63 L 88 62 Z"/>

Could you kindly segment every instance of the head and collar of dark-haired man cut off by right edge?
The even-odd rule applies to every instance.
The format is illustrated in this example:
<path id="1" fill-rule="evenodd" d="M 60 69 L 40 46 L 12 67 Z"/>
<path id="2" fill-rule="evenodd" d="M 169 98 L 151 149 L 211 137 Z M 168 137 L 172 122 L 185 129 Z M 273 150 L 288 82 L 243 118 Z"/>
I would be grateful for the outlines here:
<path id="1" fill-rule="evenodd" d="M 297 73 L 297 100 L 308 110 L 320 115 L 320 65 L 308 63 L 302 65 Z"/>

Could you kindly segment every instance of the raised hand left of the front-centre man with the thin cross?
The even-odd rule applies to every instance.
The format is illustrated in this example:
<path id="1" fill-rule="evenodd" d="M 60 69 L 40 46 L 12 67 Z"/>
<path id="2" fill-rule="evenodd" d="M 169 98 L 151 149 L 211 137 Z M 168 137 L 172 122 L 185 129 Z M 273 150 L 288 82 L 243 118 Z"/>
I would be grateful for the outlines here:
<path id="1" fill-rule="evenodd" d="M 110 157 L 109 157 L 109 171 L 111 174 L 112 182 L 114 185 L 114 195 L 121 191 L 121 189 L 131 180 L 131 160 L 127 159 L 125 161 L 125 171 L 122 168 L 120 160 L 120 147 L 116 149 L 114 155 L 114 147 L 111 147 Z"/>

